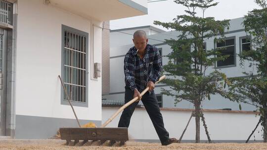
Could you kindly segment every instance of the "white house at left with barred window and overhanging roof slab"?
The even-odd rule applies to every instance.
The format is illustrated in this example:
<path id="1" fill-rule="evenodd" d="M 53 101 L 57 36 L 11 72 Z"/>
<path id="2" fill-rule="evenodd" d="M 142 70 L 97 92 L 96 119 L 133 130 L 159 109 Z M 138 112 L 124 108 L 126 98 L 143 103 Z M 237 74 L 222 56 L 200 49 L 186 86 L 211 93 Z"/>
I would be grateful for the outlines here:
<path id="1" fill-rule="evenodd" d="M 146 0 L 0 0 L 0 136 L 78 127 L 58 75 L 80 123 L 99 126 L 103 22 L 144 14 Z"/>

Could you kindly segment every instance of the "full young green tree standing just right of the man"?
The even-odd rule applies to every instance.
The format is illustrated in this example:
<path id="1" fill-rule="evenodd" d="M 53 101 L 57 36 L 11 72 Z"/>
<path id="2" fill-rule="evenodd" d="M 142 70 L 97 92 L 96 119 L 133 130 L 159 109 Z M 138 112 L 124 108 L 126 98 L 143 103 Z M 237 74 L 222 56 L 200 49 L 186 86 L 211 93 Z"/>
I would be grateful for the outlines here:
<path id="1" fill-rule="evenodd" d="M 229 20 L 217 21 L 214 17 L 205 17 L 205 11 L 218 4 L 214 0 L 175 0 L 175 2 L 187 8 L 184 10 L 185 15 L 178 15 L 173 19 L 174 22 L 154 21 L 156 25 L 181 32 L 177 40 L 166 39 L 172 52 L 167 55 L 169 62 L 164 66 L 165 74 L 169 77 L 163 82 L 172 90 L 163 89 L 162 93 L 175 97 L 176 104 L 181 100 L 192 103 L 195 107 L 195 142 L 200 142 L 200 118 L 211 142 L 201 111 L 201 103 L 204 99 L 210 100 L 210 95 L 213 94 L 220 94 L 225 98 L 231 96 L 224 90 L 225 84 L 229 83 L 225 74 L 216 70 L 206 73 L 209 67 L 214 67 L 217 61 L 224 61 L 228 55 L 223 54 L 223 49 L 206 50 L 204 41 L 217 35 L 221 35 L 221 38 L 215 38 L 215 41 L 222 41 L 224 30 L 229 28 Z M 215 55 L 217 57 L 214 57 Z"/>

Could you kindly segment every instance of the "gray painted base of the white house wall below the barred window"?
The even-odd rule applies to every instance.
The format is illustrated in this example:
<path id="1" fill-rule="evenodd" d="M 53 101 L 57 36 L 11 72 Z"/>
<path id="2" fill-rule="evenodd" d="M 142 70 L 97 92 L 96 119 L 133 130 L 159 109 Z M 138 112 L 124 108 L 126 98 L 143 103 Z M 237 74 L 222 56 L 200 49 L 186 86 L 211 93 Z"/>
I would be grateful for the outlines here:
<path id="1" fill-rule="evenodd" d="M 79 120 L 80 124 L 101 120 Z M 76 119 L 16 115 L 15 139 L 48 139 L 57 134 L 60 127 L 79 127 Z"/>

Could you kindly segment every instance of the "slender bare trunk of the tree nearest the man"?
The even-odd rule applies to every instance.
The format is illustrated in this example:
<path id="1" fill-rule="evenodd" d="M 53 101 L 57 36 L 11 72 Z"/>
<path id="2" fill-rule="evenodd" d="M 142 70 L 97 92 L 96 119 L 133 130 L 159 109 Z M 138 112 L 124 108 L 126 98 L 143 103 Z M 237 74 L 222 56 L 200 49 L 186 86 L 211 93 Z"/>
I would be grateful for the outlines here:
<path id="1" fill-rule="evenodd" d="M 196 121 L 196 139 L 195 143 L 200 143 L 200 104 L 195 101 L 195 121 Z"/>

